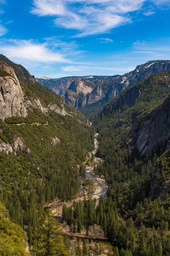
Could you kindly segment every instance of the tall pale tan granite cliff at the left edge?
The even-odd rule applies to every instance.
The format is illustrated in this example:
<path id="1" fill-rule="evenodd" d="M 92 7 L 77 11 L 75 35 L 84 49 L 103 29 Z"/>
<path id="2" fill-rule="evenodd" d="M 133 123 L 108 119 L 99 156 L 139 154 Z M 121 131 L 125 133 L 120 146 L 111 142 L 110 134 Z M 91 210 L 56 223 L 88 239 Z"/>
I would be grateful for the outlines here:
<path id="1" fill-rule="evenodd" d="M 0 62 L 0 70 L 10 74 L 10 76 L 0 76 L 0 119 L 27 116 L 24 93 L 14 70 L 3 62 Z"/>

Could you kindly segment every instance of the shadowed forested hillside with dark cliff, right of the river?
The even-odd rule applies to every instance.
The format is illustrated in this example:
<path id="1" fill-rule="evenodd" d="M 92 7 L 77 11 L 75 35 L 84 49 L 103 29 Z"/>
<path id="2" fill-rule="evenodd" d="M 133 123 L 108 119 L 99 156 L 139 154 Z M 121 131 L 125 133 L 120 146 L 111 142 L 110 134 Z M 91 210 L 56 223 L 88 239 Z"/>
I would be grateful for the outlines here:
<path id="1" fill-rule="evenodd" d="M 170 252 L 169 96 L 170 72 L 156 74 L 120 93 L 93 120 L 104 160 L 94 171 L 109 183 L 102 214 L 107 219 L 105 209 L 113 209 L 115 216 L 112 229 L 106 220 L 106 233 L 127 255 Z"/>

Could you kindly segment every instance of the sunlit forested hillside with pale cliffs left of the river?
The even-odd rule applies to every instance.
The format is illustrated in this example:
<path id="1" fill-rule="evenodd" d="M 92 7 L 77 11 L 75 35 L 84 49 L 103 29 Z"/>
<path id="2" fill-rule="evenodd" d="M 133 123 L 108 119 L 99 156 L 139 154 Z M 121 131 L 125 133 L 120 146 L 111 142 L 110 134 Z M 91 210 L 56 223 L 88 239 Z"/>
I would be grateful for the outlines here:
<path id="1" fill-rule="evenodd" d="M 94 130 L 24 67 L 1 58 L 0 201 L 11 221 L 35 233 L 45 204 L 79 193 L 78 167 L 94 148 Z"/>

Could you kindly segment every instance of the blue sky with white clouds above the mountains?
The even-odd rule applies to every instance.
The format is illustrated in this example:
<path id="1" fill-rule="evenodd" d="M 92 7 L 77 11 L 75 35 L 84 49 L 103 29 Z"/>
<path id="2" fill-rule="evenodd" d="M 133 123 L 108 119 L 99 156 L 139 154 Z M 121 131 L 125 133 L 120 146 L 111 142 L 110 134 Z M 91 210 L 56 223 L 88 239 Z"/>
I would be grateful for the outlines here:
<path id="1" fill-rule="evenodd" d="M 170 0 L 0 0 L 0 53 L 36 77 L 124 74 L 170 59 Z"/>

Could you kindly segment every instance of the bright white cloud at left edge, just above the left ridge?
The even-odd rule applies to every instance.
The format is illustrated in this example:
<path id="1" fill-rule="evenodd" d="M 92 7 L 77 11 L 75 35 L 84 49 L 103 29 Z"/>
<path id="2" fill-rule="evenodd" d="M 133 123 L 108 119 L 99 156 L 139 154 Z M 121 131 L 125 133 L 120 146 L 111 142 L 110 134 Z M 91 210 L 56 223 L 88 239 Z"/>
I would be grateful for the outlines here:
<path id="1" fill-rule="evenodd" d="M 47 43 L 40 44 L 33 40 L 1 41 L 0 49 L 8 58 L 21 63 L 71 63 L 65 55 L 51 51 Z"/>

